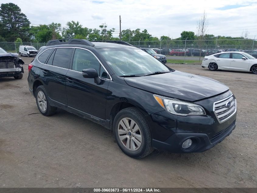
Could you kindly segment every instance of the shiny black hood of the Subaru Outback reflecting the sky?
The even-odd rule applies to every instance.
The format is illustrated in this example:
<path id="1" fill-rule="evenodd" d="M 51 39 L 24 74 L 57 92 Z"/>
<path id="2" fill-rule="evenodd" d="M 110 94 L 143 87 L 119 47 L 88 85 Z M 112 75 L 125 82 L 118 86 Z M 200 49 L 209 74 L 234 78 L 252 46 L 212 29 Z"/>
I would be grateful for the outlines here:
<path id="1" fill-rule="evenodd" d="M 186 101 L 201 100 L 229 89 L 217 80 L 180 71 L 144 77 L 125 77 L 124 80 L 132 87 Z"/>

